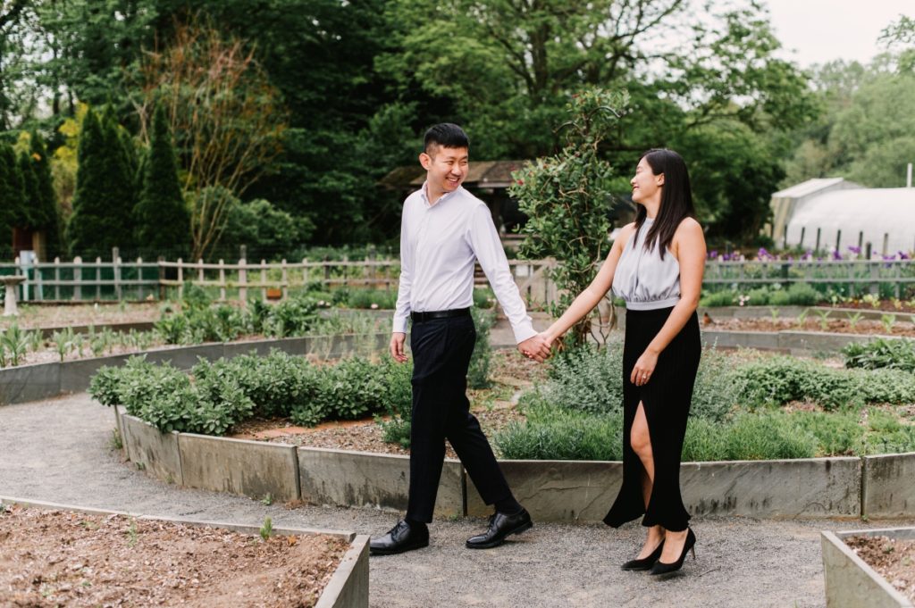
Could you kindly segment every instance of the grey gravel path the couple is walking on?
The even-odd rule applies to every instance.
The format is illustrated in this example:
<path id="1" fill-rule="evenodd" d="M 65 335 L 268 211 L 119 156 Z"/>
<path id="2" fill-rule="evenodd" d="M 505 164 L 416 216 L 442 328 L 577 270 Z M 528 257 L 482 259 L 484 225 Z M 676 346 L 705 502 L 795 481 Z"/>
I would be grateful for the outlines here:
<path id="1" fill-rule="evenodd" d="M 0 407 L 0 495 L 253 525 L 269 515 L 274 526 L 368 534 L 396 519 L 369 509 L 290 510 L 167 485 L 121 461 L 109 447 L 113 427 L 113 411 L 85 394 Z M 372 558 L 371 606 L 823 606 L 819 530 L 865 526 L 708 517 L 693 523 L 698 560 L 690 559 L 682 576 L 654 581 L 619 570 L 640 541 L 635 524 L 543 523 L 499 549 L 472 551 L 463 542 L 482 520 L 436 521 L 428 549 Z"/>

